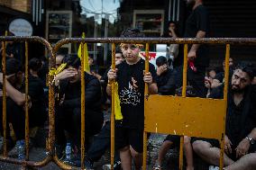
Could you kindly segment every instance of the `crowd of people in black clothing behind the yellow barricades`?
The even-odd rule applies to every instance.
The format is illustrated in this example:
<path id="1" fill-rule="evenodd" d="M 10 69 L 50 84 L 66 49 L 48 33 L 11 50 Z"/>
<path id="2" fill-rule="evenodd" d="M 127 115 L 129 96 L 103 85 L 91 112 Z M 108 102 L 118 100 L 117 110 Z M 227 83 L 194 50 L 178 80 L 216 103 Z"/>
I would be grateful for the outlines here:
<path id="1" fill-rule="evenodd" d="M 208 13 L 202 0 L 187 0 L 192 13 L 188 16 L 185 38 L 206 38 L 209 34 Z M 138 29 L 127 29 L 122 38 L 143 38 Z M 177 25 L 169 22 L 168 32 L 163 37 L 178 38 Z M 12 45 L 12 44 L 11 44 Z M 167 56 L 156 59 L 156 68 L 150 64 L 145 72 L 145 61 L 139 53 L 143 44 L 121 43 L 115 53 L 116 68 L 107 68 L 104 75 L 98 73 L 93 58 L 89 58 L 90 71 L 85 72 L 85 146 L 87 168 L 110 148 L 110 121 L 104 120 L 103 107 L 111 98 L 112 82 L 117 83 L 121 115 L 115 115 L 114 169 L 131 170 L 142 167 L 144 128 L 144 84 L 149 85 L 149 94 L 180 95 L 182 87 L 182 45 L 168 44 Z M 3 82 L 6 88 L 7 147 L 9 157 L 24 155 L 25 129 L 25 79 L 21 59 L 9 50 L 6 59 L 6 76 L 0 73 L 0 105 L 3 107 Z M 220 99 L 224 96 L 224 63 L 222 71 L 208 68 L 206 45 L 189 45 L 187 53 L 187 96 Z M 54 77 L 56 154 L 72 166 L 80 166 L 81 146 L 81 62 L 77 55 L 56 55 L 56 68 L 65 68 Z M 39 58 L 29 61 L 28 109 L 30 129 L 47 122 L 47 87 L 45 85 L 47 64 Z M 224 169 L 256 169 L 256 108 L 255 69 L 250 64 L 229 60 L 230 78 L 224 136 Z M 3 112 L 0 110 L 0 122 Z M 0 126 L 3 135 L 3 124 Z M 14 135 L 11 134 L 14 132 Z M 32 139 L 32 138 L 31 138 Z M 217 170 L 220 144 L 215 139 L 184 138 L 187 170 L 193 170 L 193 155 L 201 157 L 210 170 Z M 92 142 L 93 141 L 93 142 Z M 3 137 L 0 151 L 3 152 Z M 32 140 L 30 140 L 32 144 Z M 67 156 L 70 145 L 71 156 Z M 159 150 L 154 170 L 162 169 L 163 159 L 169 148 L 179 147 L 179 137 L 168 135 Z M 22 149 L 21 149 L 22 148 Z M 133 160 L 133 164 L 132 164 Z"/>

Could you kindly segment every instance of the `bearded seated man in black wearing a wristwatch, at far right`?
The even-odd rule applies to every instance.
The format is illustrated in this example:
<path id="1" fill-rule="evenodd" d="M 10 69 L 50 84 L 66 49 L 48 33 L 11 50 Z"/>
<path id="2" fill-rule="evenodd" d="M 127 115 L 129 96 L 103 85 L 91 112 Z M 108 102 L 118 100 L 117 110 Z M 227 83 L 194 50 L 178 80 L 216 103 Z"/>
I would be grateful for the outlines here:
<path id="1" fill-rule="evenodd" d="M 256 169 L 256 108 L 255 89 L 251 86 L 253 72 L 246 65 L 233 71 L 228 91 L 226 131 L 224 137 L 224 169 Z M 224 85 L 215 88 L 209 98 L 223 98 Z M 193 148 L 207 163 L 218 166 L 220 145 L 215 139 L 195 139 Z M 254 153 L 250 154 L 250 153 Z M 254 157 L 254 158 L 253 158 Z M 218 169 L 210 167 L 211 169 Z"/>

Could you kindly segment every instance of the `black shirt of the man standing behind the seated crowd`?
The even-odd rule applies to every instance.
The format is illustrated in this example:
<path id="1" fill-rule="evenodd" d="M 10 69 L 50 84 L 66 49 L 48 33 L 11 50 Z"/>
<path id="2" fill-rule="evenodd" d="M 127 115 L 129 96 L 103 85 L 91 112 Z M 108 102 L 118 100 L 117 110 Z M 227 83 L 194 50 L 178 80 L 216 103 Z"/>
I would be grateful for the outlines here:
<path id="1" fill-rule="evenodd" d="M 188 16 L 184 38 L 196 38 L 198 31 L 206 31 L 206 37 L 209 36 L 209 15 L 206 7 L 202 4 L 198 5 Z M 195 59 L 197 69 L 201 67 L 205 68 L 209 65 L 207 53 L 206 45 L 201 45 L 199 49 L 197 49 L 197 58 Z"/>

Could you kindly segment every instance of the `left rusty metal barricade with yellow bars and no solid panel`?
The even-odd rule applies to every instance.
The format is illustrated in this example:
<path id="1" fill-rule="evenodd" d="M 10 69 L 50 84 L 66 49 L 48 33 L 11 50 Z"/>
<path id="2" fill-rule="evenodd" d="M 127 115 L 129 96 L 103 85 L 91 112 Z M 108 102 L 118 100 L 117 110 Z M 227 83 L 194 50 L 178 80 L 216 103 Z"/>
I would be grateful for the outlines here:
<path id="1" fill-rule="evenodd" d="M 42 39 L 41 37 L 9 37 L 9 36 L 0 36 L 0 41 L 2 41 L 2 71 L 3 71 L 3 79 L 5 80 L 5 63 L 6 63 L 6 56 L 5 56 L 5 49 L 6 49 L 6 42 L 7 41 L 14 41 L 14 42 L 24 42 L 25 43 L 25 159 L 19 160 L 11 157 L 7 157 L 7 146 L 6 146 L 6 84 L 5 81 L 3 81 L 3 130 L 4 130 L 4 154 L 3 156 L 0 156 L 0 161 L 6 162 L 6 163 L 12 163 L 17 165 L 22 165 L 23 167 L 26 166 L 32 166 L 32 167 L 41 167 L 47 165 L 50 160 L 52 159 L 53 154 L 53 131 L 54 131 L 54 115 L 53 115 L 53 106 L 49 107 L 49 120 L 50 121 L 50 132 L 49 132 L 49 140 L 48 140 L 48 153 L 47 156 L 41 161 L 41 162 L 35 162 L 29 160 L 29 103 L 28 103 L 28 51 L 29 51 L 29 42 L 40 42 L 42 45 L 45 46 L 46 49 L 48 49 L 50 56 L 52 56 L 52 48 L 50 46 L 50 43 L 47 40 Z M 53 91 L 51 91 L 53 92 Z M 52 95 L 50 95 L 51 97 Z"/>

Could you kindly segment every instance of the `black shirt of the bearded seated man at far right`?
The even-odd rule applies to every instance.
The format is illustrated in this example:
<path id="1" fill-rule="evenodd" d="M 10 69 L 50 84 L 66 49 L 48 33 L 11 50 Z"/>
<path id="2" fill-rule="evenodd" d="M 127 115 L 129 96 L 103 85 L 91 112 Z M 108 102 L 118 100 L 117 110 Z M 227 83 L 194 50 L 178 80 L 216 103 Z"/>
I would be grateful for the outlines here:
<path id="1" fill-rule="evenodd" d="M 229 87 L 231 89 L 231 87 Z M 255 86 L 250 85 L 244 91 L 242 102 L 238 105 L 233 103 L 233 92 L 229 90 L 226 114 L 225 132 L 227 137 L 236 147 L 251 130 L 256 128 Z M 213 89 L 209 98 L 223 98 L 224 85 Z"/>

